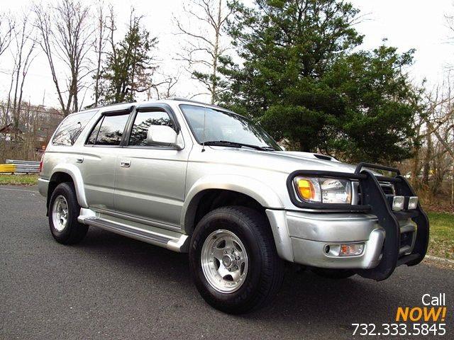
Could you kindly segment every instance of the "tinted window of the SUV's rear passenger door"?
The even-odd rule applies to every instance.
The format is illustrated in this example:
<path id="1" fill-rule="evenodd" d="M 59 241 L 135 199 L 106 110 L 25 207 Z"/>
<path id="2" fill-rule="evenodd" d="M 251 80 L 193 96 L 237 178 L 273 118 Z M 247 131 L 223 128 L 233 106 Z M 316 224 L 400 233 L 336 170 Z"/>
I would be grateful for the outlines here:
<path id="1" fill-rule="evenodd" d="M 129 113 L 105 115 L 101 118 L 88 137 L 88 145 L 120 145 Z"/>

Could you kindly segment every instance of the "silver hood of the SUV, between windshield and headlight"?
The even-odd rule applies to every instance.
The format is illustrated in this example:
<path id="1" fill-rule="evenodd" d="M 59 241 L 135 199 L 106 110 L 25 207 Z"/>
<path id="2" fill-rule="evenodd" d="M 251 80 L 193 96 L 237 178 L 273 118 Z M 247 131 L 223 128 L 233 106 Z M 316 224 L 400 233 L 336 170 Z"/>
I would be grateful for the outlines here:
<path id="1" fill-rule="evenodd" d="M 311 152 L 260 151 L 248 148 L 214 147 L 213 157 L 223 164 L 253 166 L 290 174 L 296 170 L 324 170 L 353 174 L 355 166 L 339 162 L 334 157 Z"/>

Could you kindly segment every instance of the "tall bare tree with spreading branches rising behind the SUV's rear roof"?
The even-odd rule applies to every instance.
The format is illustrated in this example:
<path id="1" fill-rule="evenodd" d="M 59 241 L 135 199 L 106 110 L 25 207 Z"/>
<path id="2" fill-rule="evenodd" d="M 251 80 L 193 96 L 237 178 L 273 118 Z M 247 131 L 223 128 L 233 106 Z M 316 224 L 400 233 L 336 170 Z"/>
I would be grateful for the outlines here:
<path id="1" fill-rule="evenodd" d="M 92 72 L 88 56 L 93 33 L 89 7 L 79 0 L 61 0 L 55 5 L 35 4 L 33 11 L 58 101 L 68 115 L 82 106 L 79 91 L 87 86 L 84 78 Z M 60 74 L 65 74 L 65 81 Z"/>

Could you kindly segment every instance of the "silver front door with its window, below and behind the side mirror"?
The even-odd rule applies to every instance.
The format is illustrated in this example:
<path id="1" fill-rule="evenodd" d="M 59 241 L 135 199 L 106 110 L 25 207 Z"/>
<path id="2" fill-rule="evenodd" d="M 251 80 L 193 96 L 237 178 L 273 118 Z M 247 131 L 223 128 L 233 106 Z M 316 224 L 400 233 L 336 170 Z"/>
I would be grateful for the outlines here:
<path id="1" fill-rule="evenodd" d="M 175 228 L 180 227 L 190 148 L 147 142 L 150 125 L 168 125 L 182 133 L 169 111 L 157 105 L 135 113 L 126 145 L 117 150 L 114 197 L 117 212 Z"/>

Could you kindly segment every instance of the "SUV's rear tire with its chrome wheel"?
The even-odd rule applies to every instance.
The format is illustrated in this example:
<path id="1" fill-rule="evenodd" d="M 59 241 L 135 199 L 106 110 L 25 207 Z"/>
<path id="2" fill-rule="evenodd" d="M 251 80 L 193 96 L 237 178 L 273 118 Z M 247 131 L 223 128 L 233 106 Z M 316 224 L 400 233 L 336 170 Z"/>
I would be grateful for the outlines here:
<path id="1" fill-rule="evenodd" d="M 74 184 L 60 183 L 52 192 L 49 202 L 49 226 L 54 239 L 61 244 L 76 244 L 84 239 L 88 225 L 77 221 L 80 205 Z"/>

